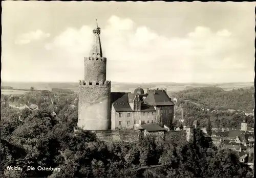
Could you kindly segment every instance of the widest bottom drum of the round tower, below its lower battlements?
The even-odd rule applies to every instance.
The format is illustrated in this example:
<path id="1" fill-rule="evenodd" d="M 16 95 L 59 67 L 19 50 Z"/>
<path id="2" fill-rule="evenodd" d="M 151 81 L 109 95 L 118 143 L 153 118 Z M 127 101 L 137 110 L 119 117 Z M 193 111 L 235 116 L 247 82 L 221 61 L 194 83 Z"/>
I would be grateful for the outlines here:
<path id="1" fill-rule="evenodd" d="M 83 130 L 111 129 L 110 90 L 110 87 L 79 86 L 77 126 Z"/>

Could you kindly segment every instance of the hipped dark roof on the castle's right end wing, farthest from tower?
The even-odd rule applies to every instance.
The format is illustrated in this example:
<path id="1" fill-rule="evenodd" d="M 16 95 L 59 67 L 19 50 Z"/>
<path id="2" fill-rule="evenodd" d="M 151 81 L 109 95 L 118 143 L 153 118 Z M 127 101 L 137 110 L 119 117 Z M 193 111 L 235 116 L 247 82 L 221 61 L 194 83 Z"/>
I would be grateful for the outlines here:
<path id="1" fill-rule="evenodd" d="M 169 98 L 164 90 L 149 90 L 144 99 L 145 103 L 152 106 L 174 106 L 172 99 Z"/>

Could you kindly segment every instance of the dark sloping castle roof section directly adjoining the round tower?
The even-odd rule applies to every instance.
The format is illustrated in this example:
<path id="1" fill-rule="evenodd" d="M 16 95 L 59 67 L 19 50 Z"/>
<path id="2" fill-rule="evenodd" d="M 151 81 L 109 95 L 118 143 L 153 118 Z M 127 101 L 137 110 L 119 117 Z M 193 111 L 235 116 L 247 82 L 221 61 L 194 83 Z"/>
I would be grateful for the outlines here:
<path id="1" fill-rule="evenodd" d="M 117 112 L 131 112 L 133 111 L 128 102 L 128 94 L 124 92 L 112 92 L 111 104 Z"/>

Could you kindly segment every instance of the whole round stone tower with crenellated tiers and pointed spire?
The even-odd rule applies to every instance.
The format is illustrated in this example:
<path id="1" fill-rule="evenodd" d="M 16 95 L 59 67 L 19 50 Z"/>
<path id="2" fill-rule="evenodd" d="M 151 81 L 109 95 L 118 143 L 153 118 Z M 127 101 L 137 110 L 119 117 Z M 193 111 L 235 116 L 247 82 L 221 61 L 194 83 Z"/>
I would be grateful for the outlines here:
<path id="1" fill-rule="evenodd" d="M 79 81 L 77 126 L 83 130 L 110 130 L 111 82 L 106 81 L 106 58 L 102 56 L 98 25 L 93 34 L 90 55 L 84 58 L 84 80 Z"/>

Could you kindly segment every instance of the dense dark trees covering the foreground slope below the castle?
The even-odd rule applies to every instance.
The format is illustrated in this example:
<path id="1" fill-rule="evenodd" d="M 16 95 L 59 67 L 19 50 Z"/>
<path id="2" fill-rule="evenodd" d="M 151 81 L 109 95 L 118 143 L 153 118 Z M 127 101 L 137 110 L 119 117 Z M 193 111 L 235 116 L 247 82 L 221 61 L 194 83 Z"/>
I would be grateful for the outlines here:
<path id="1" fill-rule="evenodd" d="M 89 131 L 74 132 L 78 105 L 75 94 L 30 91 L 5 99 L 7 103 L 33 100 L 39 110 L 19 110 L 8 105 L 1 108 L 1 177 L 252 175 L 252 170 L 240 163 L 236 154 L 217 149 L 201 130 L 195 131 L 194 143 L 184 146 L 150 137 L 139 143 L 109 143 L 98 140 Z M 7 170 L 6 166 L 23 169 Z M 35 170 L 27 170 L 27 166 Z M 39 171 L 38 166 L 56 170 Z"/>

